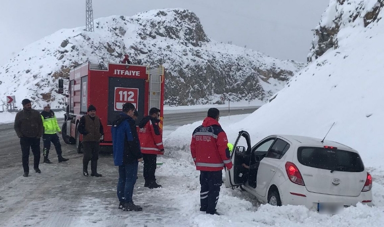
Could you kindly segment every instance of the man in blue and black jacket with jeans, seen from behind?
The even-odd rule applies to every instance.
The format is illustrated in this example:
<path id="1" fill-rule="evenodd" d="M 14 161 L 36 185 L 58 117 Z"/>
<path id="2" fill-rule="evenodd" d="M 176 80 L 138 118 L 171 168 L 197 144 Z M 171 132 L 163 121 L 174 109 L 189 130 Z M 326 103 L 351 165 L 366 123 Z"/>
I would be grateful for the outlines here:
<path id="1" fill-rule="evenodd" d="M 142 208 L 133 203 L 133 188 L 136 183 L 138 162 L 142 161 L 140 142 L 136 131 L 135 113 L 132 103 L 123 105 L 123 112 L 116 117 L 112 125 L 113 160 L 119 166 L 117 197 L 119 208 L 125 211 L 140 211 Z"/>

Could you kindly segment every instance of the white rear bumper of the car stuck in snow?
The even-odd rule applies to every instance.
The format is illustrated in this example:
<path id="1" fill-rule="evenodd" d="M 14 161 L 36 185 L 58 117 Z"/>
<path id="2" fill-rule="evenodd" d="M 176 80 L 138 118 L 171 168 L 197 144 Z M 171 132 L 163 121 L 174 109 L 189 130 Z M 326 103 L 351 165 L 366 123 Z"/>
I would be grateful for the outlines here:
<path id="1" fill-rule="evenodd" d="M 279 186 L 282 205 L 305 205 L 317 210 L 318 203 L 341 203 L 344 206 L 356 206 L 357 203 L 372 205 L 372 191 L 361 192 L 359 196 L 339 196 L 309 192 L 305 186 L 287 180 Z"/>

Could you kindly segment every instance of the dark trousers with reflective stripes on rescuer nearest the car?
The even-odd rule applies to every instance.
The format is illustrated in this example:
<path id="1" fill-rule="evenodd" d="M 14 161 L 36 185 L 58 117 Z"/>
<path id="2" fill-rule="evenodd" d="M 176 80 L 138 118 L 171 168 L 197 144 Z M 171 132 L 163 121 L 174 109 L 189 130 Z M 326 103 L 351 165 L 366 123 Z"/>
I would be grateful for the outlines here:
<path id="1" fill-rule="evenodd" d="M 221 171 L 200 171 L 200 205 L 201 211 L 214 214 L 219 200 L 222 182 Z"/>

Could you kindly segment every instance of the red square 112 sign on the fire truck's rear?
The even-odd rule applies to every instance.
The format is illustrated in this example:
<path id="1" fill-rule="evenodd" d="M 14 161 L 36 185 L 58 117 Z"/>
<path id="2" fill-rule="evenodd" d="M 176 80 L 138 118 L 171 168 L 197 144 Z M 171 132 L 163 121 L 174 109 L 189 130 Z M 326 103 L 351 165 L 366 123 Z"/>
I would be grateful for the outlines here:
<path id="1" fill-rule="evenodd" d="M 115 111 L 123 110 L 126 102 L 130 102 L 136 109 L 138 108 L 138 88 L 115 87 Z"/>

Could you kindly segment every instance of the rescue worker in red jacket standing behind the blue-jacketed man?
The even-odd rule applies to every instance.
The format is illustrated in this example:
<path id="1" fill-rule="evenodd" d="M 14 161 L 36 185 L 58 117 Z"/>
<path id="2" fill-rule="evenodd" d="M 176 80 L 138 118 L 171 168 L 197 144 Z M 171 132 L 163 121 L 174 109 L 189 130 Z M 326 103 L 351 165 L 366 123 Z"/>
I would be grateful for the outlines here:
<path id="1" fill-rule="evenodd" d="M 156 159 L 158 154 L 164 154 L 163 135 L 159 127 L 160 109 L 152 107 L 150 115 L 143 118 L 138 124 L 140 147 L 144 160 L 143 177 L 144 187 L 150 189 L 160 188 L 156 183 Z"/>

